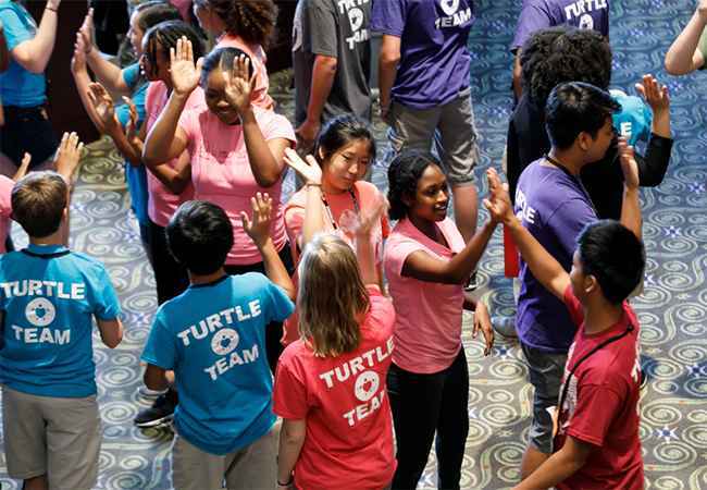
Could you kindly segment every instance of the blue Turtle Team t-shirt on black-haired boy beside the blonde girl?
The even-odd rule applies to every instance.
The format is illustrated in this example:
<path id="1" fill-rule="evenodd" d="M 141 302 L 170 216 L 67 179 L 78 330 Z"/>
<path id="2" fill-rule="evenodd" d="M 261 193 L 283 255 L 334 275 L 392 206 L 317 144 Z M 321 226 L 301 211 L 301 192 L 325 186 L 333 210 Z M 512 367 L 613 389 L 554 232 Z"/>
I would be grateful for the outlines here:
<path id="1" fill-rule="evenodd" d="M 191 284 L 160 307 L 142 360 L 174 370 L 181 437 L 225 455 L 272 429 L 265 326 L 294 310 L 285 290 L 258 272 Z"/>

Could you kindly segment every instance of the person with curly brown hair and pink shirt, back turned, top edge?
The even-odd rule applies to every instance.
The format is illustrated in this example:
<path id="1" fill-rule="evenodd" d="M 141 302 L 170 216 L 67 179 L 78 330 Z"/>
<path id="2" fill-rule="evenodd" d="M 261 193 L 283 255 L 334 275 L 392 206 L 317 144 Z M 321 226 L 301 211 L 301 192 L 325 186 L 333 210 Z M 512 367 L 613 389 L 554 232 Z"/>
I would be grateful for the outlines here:
<path id="1" fill-rule="evenodd" d="M 248 54 L 256 73 L 250 101 L 272 111 L 263 48 L 274 41 L 277 7 L 270 0 L 194 0 L 194 14 L 201 28 L 216 37 L 213 49 L 238 48 Z"/>

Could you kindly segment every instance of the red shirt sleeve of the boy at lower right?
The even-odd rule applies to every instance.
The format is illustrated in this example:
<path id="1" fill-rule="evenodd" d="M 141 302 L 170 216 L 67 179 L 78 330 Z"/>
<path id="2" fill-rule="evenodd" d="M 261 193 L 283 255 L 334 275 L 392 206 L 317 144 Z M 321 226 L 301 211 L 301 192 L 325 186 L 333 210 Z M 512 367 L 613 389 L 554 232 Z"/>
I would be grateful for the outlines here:
<path id="1" fill-rule="evenodd" d="M 590 444 L 601 445 L 622 405 L 621 397 L 603 383 L 585 384 L 580 381 L 576 407 L 570 420 L 568 436 Z"/>

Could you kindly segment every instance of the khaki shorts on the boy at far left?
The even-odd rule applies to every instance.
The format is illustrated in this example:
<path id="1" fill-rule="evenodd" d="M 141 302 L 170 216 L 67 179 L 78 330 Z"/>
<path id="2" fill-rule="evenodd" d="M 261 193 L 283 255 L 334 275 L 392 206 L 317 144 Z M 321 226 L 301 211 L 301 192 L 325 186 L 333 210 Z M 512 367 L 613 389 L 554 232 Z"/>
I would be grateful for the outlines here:
<path id="1" fill-rule="evenodd" d="M 98 482 L 103 430 L 95 394 L 38 396 L 2 384 L 2 430 L 10 478 L 48 474 L 57 490 L 89 490 Z"/>

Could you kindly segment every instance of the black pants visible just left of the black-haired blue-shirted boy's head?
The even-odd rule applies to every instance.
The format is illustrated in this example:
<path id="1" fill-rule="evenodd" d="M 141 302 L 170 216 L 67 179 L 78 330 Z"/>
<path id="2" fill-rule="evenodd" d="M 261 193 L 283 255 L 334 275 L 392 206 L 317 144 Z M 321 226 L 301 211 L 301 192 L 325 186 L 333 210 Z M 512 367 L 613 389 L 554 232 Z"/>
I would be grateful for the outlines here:
<path id="1" fill-rule="evenodd" d="M 164 237 L 164 228 L 150 220 L 150 246 L 152 269 L 157 282 L 157 303 L 161 305 L 184 293 L 189 287 L 189 274 L 184 266 L 170 254 Z"/>

